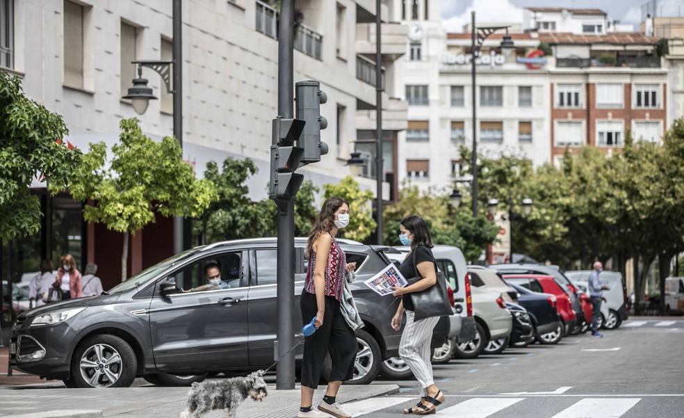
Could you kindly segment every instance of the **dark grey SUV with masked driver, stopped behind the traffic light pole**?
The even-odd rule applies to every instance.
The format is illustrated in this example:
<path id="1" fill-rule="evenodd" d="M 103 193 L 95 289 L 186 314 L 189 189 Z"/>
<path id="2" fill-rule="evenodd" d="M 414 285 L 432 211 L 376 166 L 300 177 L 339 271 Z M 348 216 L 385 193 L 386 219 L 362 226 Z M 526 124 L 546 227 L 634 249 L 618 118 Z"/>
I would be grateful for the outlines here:
<path id="1" fill-rule="evenodd" d="M 295 247 L 305 245 L 306 239 L 295 239 Z M 394 298 L 379 296 L 363 283 L 389 264 L 382 252 L 388 248 L 343 240 L 340 246 L 348 261 L 357 263 L 358 280 L 351 289 L 366 325 L 356 333 L 359 355 L 352 382 L 369 383 L 382 360 L 397 355 L 400 339 L 388 309 Z M 188 385 L 207 373 L 263 369 L 273 362 L 276 338 L 276 260 L 273 238 L 213 243 L 147 268 L 108 294 L 24 312 L 12 328 L 10 364 L 62 379 L 68 387 L 125 387 L 136 376 Z M 202 284 L 202 268 L 209 262 L 220 264 L 229 288 L 188 291 Z M 302 270 L 295 274 L 295 306 Z M 433 344 L 441 345 L 447 334 L 445 318 L 435 327 Z"/>

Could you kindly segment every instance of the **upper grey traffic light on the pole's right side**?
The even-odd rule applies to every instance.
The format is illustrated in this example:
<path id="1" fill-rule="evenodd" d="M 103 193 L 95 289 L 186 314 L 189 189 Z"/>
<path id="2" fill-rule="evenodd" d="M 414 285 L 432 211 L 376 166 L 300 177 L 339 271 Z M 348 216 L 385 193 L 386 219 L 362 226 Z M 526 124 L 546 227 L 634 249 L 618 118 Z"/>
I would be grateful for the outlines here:
<path id="1" fill-rule="evenodd" d="M 327 127 L 320 105 L 327 102 L 327 95 L 320 90 L 318 81 L 299 81 L 295 83 L 295 102 L 295 118 L 306 122 L 298 143 L 304 148 L 302 165 L 316 163 L 328 152 L 327 144 L 320 140 L 320 130 Z"/>

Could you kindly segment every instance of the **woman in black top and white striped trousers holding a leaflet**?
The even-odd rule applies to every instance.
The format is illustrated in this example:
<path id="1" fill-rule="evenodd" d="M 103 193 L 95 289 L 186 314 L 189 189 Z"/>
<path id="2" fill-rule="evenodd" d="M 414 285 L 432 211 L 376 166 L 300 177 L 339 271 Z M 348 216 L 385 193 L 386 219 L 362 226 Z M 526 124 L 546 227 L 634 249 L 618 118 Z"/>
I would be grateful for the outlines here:
<path id="1" fill-rule="evenodd" d="M 400 330 L 401 320 L 406 312 L 406 326 L 399 342 L 399 355 L 411 369 L 421 385 L 421 401 L 412 408 L 404 410 L 404 414 L 430 415 L 437 406 L 445 401 L 444 394 L 434 385 L 432 377 L 432 330 L 439 321 L 439 316 L 415 319 L 416 307 L 411 299 L 412 292 L 423 291 L 437 284 L 437 264 L 430 248 L 430 230 L 428 224 L 420 216 L 409 216 L 399 225 L 399 240 L 404 246 L 411 246 L 411 251 L 399 267 L 405 278 L 418 277 L 419 280 L 407 287 L 393 287 L 394 296 L 401 296 L 396 314 L 392 318 L 392 328 Z M 418 307 L 419 308 L 419 307 Z"/>

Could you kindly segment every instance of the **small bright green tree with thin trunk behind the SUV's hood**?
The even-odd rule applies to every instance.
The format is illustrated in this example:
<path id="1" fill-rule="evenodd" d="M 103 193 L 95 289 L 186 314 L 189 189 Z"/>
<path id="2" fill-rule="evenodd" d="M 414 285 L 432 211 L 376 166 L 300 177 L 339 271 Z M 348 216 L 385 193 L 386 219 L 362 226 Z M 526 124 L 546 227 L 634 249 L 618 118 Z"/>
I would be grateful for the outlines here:
<path id="1" fill-rule="evenodd" d="M 142 133 L 137 119 L 121 120 L 120 128 L 120 143 L 112 146 L 110 163 L 104 143 L 90 144 L 70 190 L 76 200 L 90 200 L 83 211 L 86 220 L 124 234 L 123 281 L 129 234 L 154 222 L 156 214 L 197 218 L 218 197 L 213 184 L 198 180 L 183 161 L 177 140 L 167 136 L 154 142 Z"/>

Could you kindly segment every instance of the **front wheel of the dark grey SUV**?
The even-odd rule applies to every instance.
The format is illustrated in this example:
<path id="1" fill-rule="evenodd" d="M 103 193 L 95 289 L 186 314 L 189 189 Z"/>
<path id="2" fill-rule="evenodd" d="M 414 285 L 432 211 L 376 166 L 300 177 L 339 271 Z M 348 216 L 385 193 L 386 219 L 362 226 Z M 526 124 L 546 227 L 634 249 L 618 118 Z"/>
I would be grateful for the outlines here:
<path id="1" fill-rule="evenodd" d="M 115 335 L 93 335 L 72 357 L 71 375 L 77 387 L 129 387 L 138 360 L 133 348 Z"/>

